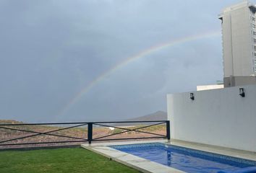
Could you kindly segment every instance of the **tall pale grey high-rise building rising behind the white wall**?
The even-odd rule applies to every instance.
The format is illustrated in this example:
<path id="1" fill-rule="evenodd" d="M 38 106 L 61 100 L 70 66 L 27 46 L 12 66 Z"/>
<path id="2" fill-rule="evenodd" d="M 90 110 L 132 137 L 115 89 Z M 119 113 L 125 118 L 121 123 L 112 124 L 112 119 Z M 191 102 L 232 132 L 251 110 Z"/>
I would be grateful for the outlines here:
<path id="1" fill-rule="evenodd" d="M 225 87 L 256 84 L 255 12 L 255 5 L 243 1 L 227 7 L 219 15 L 222 22 Z"/>

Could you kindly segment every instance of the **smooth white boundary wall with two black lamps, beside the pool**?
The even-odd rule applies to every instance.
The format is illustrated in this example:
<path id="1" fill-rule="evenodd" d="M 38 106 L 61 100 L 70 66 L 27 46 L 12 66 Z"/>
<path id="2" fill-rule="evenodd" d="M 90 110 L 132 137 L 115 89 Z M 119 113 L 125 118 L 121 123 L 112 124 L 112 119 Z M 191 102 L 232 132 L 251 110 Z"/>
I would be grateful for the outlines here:
<path id="1" fill-rule="evenodd" d="M 168 94 L 171 138 L 256 151 L 256 85 Z"/>

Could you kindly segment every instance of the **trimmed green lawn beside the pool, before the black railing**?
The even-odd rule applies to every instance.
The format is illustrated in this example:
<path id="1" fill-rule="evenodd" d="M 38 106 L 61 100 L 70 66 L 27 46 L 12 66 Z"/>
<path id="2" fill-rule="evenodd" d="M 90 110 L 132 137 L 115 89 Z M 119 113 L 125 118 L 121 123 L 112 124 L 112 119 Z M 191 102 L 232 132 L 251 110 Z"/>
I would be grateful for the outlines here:
<path id="1" fill-rule="evenodd" d="M 0 151 L 1 173 L 138 172 L 84 148 Z"/>

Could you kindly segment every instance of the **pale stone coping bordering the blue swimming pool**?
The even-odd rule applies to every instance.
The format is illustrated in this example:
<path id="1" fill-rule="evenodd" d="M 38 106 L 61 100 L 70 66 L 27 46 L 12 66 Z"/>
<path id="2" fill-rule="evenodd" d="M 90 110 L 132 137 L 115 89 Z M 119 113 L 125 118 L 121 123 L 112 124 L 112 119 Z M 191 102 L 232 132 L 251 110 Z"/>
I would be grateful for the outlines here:
<path id="1" fill-rule="evenodd" d="M 233 156 L 240 159 L 249 159 L 256 161 L 256 154 L 249 151 L 240 151 L 233 148 L 223 148 L 218 146 L 209 146 L 200 143 L 190 143 L 187 141 L 171 141 L 167 140 L 154 140 L 154 141 L 119 141 L 119 142 L 107 142 L 107 143 L 84 143 L 81 146 L 90 151 L 94 151 L 97 154 L 106 156 L 108 159 L 118 161 L 128 167 L 139 170 L 145 173 L 182 173 L 183 171 L 179 169 L 174 169 L 172 167 L 167 167 L 163 164 L 158 164 L 155 161 L 150 161 L 148 159 L 143 159 L 139 156 L 134 156 L 132 154 L 127 154 L 122 151 L 110 148 L 108 146 L 115 145 L 128 145 L 128 144 L 139 144 L 139 143 L 167 143 L 174 146 L 182 146 L 185 148 L 192 148 L 200 151 L 206 151 L 214 154 L 223 154 L 226 156 Z"/>

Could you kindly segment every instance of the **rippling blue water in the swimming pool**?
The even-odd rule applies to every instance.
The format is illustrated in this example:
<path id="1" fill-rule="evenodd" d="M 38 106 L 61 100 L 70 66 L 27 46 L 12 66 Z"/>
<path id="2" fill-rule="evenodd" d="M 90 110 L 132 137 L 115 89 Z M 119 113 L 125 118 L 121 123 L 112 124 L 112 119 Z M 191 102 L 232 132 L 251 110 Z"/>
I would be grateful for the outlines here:
<path id="1" fill-rule="evenodd" d="M 190 148 L 166 145 L 164 143 L 110 147 L 189 173 L 217 173 L 223 170 L 233 172 L 242 168 L 256 166 L 256 161 L 212 154 Z"/>

